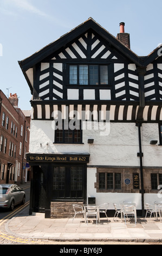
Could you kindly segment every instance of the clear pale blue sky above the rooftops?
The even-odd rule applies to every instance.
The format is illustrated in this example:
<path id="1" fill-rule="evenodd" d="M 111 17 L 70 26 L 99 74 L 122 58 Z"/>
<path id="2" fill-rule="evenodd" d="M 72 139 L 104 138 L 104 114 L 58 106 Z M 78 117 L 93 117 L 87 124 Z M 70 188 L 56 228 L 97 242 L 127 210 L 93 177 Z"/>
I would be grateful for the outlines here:
<path id="1" fill-rule="evenodd" d="M 0 88 L 5 95 L 17 93 L 19 107 L 30 109 L 30 89 L 18 60 L 89 17 L 114 36 L 125 22 L 131 50 L 146 56 L 162 42 L 161 10 L 161 0 L 0 0 Z"/>

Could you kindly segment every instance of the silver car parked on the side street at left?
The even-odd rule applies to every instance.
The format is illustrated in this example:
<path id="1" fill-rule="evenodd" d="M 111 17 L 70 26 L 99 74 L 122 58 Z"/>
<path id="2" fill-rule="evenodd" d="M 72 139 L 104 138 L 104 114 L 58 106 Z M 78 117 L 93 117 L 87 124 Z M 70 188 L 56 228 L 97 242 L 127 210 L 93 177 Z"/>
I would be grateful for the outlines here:
<path id="1" fill-rule="evenodd" d="M 25 203 L 25 192 L 16 184 L 0 184 L 0 208 L 11 211 L 17 204 Z"/>

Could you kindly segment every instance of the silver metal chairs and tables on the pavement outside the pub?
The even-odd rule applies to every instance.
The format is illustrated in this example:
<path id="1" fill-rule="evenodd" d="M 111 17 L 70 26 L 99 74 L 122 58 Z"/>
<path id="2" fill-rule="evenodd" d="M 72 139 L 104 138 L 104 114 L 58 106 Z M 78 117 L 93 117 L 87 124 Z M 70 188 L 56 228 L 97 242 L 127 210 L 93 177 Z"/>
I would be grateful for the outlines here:
<path id="1" fill-rule="evenodd" d="M 98 224 L 100 223 L 101 220 L 101 214 L 103 217 L 103 214 L 105 215 L 107 222 L 108 216 L 107 216 L 107 210 L 108 210 L 108 203 L 101 204 L 101 205 L 93 205 L 93 204 L 87 204 L 87 205 L 77 205 L 73 204 L 73 209 L 74 209 L 74 218 L 76 217 L 77 214 L 82 214 L 85 223 L 88 225 L 89 220 L 94 220 L 95 218 L 95 223 Z M 116 220 L 128 223 L 131 218 L 134 220 L 134 224 L 137 224 L 137 209 L 136 209 L 136 204 L 131 202 L 131 201 L 124 201 L 121 202 L 120 204 L 113 203 L 115 214 L 113 217 L 113 221 L 115 222 Z M 144 220 L 146 221 L 146 218 L 154 217 L 154 220 L 160 220 L 162 218 L 162 201 L 155 201 L 153 204 L 150 203 L 145 203 L 145 217 Z M 159 219 L 158 219 L 159 217 Z M 102 218 L 103 220 L 103 218 Z M 105 219 L 104 219 L 105 221 Z"/>

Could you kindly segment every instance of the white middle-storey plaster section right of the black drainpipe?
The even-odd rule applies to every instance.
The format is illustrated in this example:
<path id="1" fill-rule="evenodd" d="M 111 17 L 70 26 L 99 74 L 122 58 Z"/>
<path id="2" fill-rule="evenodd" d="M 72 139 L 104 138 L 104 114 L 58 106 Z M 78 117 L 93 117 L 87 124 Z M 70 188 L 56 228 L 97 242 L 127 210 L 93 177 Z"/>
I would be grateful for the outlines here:
<path id="1" fill-rule="evenodd" d="M 162 147 L 159 146 L 158 124 L 142 124 L 141 126 L 142 152 L 144 153 L 143 165 L 162 167 Z M 150 141 L 158 141 L 156 145 L 150 145 Z"/>

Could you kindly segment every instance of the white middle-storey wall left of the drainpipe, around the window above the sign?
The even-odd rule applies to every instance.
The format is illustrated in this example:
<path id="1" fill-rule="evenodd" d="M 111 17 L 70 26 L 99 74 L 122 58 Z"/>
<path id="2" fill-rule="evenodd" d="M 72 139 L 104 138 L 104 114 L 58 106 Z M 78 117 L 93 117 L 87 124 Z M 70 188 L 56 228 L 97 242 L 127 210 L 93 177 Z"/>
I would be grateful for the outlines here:
<path id="1" fill-rule="evenodd" d="M 54 144 L 53 121 L 31 120 L 29 152 L 90 153 L 89 165 L 139 166 L 135 124 L 110 123 L 105 131 L 91 127 L 83 130 L 83 144 Z M 94 143 L 88 144 L 88 138 L 93 138 Z"/>

